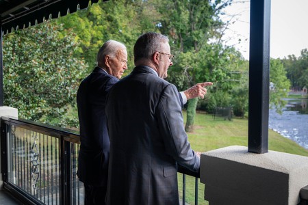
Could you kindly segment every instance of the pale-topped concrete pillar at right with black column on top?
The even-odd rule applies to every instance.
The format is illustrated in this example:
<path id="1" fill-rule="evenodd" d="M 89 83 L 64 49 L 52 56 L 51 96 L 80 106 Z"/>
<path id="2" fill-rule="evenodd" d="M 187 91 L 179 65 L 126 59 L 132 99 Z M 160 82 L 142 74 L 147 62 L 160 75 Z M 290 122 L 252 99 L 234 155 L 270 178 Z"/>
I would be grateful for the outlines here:
<path id="1" fill-rule="evenodd" d="M 296 205 L 308 184 L 308 157 L 230 146 L 201 154 L 200 180 L 209 205 Z"/>

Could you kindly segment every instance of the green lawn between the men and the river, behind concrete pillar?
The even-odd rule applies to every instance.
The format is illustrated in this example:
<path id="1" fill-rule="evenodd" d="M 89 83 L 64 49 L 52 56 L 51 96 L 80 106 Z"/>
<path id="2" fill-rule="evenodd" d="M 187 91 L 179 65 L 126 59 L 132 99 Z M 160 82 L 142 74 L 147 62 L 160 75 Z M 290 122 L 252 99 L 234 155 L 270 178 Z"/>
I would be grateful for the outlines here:
<path id="1" fill-rule="evenodd" d="M 186 113 L 183 112 L 184 121 Z M 195 128 L 188 133 L 188 140 L 193 150 L 206 152 L 227 146 L 247 146 L 248 120 L 235 118 L 214 120 L 209 114 L 197 113 Z M 294 141 L 269 130 L 269 150 L 308 156 L 308 150 L 298 146 Z M 179 194 L 182 195 L 182 174 L 179 177 Z M 194 178 L 186 176 L 186 202 L 194 204 Z M 207 204 L 204 198 L 204 184 L 198 184 L 198 204 Z"/>

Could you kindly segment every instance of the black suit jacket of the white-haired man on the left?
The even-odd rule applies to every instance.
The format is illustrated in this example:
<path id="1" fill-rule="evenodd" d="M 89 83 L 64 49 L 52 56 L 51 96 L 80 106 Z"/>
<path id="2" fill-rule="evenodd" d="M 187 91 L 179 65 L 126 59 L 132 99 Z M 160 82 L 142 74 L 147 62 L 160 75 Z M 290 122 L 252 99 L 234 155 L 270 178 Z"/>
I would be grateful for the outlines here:
<path id="1" fill-rule="evenodd" d="M 110 140 L 107 133 L 105 101 L 116 77 L 97 67 L 81 82 L 77 92 L 81 146 L 77 176 L 94 186 L 107 185 Z"/>

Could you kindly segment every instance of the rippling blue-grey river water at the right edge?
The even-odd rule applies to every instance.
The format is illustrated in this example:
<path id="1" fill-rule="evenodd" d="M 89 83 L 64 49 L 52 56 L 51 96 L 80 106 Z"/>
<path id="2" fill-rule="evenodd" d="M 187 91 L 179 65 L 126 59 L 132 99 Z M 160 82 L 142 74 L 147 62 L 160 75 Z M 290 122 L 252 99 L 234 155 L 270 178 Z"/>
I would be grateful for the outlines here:
<path id="1" fill-rule="evenodd" d="M 270 109 L 268 127 L 308 149 L 307 99 L 285 99 L 287 105 L 279 114 Z"/>

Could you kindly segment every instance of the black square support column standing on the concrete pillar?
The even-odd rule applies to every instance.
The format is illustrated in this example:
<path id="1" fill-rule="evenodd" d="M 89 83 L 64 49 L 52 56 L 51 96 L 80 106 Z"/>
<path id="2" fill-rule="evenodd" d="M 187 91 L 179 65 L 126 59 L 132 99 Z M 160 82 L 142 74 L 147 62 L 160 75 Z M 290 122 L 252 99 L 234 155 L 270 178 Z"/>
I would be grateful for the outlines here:
<path id="1" fill-rule="evenodd" d="M 251 0 L 248 152 L 268 152 L 270 0 Z"/>

